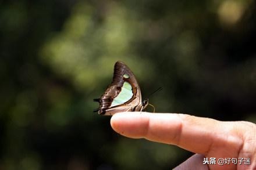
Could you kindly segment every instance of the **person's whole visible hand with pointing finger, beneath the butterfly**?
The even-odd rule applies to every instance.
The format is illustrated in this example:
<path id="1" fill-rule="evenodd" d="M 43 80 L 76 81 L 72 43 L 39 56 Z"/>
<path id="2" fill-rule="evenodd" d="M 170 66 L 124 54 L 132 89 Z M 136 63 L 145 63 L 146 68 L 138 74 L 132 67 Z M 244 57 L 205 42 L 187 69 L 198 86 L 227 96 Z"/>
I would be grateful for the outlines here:
<path id="1" fill-rule="evenodd" d="M 125 112 L 111 118 L 112 128 L 128 138 L 174 144 L 195 153 L 175 169 L 256 169 L 256 125 L 224 122 L 188 114 Z M 251 164 L 202 164 L 204 158 L 250 158 Z"/>

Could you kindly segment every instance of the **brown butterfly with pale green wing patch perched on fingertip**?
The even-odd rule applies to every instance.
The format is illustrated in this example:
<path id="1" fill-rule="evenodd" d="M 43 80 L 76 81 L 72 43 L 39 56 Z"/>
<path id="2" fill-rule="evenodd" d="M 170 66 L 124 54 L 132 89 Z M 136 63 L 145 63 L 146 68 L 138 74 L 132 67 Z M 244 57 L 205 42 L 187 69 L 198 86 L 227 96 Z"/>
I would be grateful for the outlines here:
<path id="1" fill-rule="evenodd" d="M 123 111 L 142 111 L 148 106 L 148 99 L 141 100 L 140 86 L 128 66 L 116 62 L 113 79 L 105 93 L 94 99 L 99 103 L 98 114 L 113 115 Z"/>

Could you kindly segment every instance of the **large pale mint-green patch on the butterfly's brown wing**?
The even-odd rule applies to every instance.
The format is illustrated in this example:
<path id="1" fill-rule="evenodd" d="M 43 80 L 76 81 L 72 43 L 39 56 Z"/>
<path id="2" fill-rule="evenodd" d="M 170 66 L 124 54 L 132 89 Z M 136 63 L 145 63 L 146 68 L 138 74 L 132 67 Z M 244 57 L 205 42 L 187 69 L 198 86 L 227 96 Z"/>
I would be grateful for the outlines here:
<path id="1" fill-rule="evenodd" d="M 113 99 L 111 107 L 123 104 L 128 100 L 130 100 L 131 97 L 133 97 L 133 91 L 132 91 L 131 85 L 129 84 L 129 82 L 125 81 L 123 83 L 121 92 L 118 94 L 118 96 L 115 97 L 115 99 Z"/>

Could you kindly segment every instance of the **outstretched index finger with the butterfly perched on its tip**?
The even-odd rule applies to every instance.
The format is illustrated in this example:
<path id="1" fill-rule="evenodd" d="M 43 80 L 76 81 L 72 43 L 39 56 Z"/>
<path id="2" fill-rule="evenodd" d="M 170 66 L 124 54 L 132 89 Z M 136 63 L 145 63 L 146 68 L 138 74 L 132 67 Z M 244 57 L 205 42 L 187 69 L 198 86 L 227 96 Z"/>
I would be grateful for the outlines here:
<path id="1" fill-rule="evenodd" d="M 129 138 L 175 144 L 200 154 L 208 154 L 213 147 L 225 146 L 225 150 L 236 155 L 241 140 L 236 138 L 232 124 L 225 123 L 223 126 L 221 121 L 187 114 L 146 112 L 117 113 L 111 118 L 112 128 Z"/>

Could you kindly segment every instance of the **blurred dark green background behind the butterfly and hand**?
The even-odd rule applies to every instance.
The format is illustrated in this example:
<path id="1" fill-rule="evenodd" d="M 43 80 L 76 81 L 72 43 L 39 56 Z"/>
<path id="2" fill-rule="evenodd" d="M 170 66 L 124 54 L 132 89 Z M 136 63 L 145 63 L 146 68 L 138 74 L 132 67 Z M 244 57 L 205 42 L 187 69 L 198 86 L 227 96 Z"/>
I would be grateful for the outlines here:
<path id="1" fill-rule="evenodd" d="M 256 122 L 254 1 L 2 1 L 0 169 L 170 169 L 93 99 L 125 62 L 157 112 Z M 148 108 L 152 111 L 152 108 Z"/>

